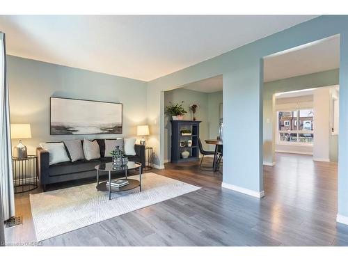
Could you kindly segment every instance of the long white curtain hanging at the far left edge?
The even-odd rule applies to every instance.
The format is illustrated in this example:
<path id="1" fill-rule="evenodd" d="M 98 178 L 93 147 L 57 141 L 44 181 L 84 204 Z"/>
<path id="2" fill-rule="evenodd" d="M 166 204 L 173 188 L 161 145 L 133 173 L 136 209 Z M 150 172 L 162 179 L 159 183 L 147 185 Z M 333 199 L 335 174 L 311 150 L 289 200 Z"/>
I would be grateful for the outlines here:
<path id="1" fill-rule="evenodd" d="M 15 216 L 15 194 L 10 140 L 10 108 L 6 75 L 5 34 L 0 32 L 0 191 L 3 220 Z"/>

